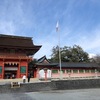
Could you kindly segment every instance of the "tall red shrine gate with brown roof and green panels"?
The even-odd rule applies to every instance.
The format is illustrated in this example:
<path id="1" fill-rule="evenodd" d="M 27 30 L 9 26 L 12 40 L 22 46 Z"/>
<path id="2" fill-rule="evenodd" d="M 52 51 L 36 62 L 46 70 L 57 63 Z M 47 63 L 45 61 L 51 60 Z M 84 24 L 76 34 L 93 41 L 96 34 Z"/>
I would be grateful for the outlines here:
<path id="1" fill-rule="evenodd" d="M 40 48 L 32 37 L 0 34 L 0 79 L 27 76 L 28 63 Z"/>

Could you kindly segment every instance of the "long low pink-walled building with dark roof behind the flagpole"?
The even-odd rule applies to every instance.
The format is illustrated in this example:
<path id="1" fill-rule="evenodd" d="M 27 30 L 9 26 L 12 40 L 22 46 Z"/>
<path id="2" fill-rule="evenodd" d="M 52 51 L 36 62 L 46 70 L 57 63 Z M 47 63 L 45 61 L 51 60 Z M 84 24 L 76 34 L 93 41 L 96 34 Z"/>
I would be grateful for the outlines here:
<path id="1" fill-rule="evenodd" d="M 34 65 L 34 77 L 39 79 L 75 79 L 75 78 L 99 78 L 100 65 L 92 62 L 62 62 L 60 64 L 50 62 L 46 56 L 38 59 Z"/>

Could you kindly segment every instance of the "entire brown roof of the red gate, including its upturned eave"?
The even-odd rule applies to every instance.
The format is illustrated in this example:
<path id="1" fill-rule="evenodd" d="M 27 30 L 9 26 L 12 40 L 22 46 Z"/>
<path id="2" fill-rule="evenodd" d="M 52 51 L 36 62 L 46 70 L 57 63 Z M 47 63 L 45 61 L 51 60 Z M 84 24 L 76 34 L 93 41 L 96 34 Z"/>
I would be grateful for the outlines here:
<path id="1" fill-rule="evenodd" d="M 0 49 L 3 48 L 23 49 L 27 51 L 27 55 L 33 55 L 41 48 L 41 45 L 34 45 L 32 37 L 0 34 Z"/>

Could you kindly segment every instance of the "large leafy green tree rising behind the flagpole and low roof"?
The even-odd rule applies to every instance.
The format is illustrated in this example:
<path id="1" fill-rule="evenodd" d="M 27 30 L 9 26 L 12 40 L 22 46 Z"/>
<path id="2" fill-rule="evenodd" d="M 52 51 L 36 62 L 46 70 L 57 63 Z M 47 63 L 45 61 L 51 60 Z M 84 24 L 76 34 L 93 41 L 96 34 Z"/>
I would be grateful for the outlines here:
<path id="1" fill-rule="evenodd" d="M 60 53 L 62 62 L 89 62 L 88 53 L 77 45 L 73 47 L 64 46 L 60 48 Z M 59 46 L 53 47 L 51 61 L 59 62 Z"/>

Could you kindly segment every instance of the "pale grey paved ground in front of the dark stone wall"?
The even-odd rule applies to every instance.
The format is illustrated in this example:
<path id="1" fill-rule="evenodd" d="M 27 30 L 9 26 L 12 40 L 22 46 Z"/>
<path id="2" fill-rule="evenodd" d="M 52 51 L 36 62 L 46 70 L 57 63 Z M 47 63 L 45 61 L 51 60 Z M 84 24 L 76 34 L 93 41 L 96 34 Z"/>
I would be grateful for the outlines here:
<path id="1" fill-rule="evenodd" d="M 0 100 L 100 100 L 100 89 L 0 94 Z"/>

